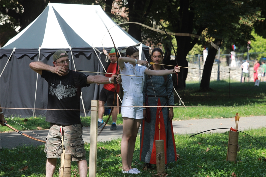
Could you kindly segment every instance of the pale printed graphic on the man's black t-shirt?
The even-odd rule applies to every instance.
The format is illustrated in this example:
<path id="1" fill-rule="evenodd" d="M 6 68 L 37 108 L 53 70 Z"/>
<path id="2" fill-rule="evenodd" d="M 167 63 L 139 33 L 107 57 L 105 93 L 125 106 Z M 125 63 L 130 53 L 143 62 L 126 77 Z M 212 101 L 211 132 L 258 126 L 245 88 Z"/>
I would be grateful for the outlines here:
<path id="1" fill-rule="evenodd" d="M 63 84 L 61 84 L 61 81 L 60 84 L 56 86 L 56 88 L 54 88 L 52 85 L 54 86 L 55 84 L 51 84 L 51 86 L 49 87 L 49 94 L 56 96 L 58 100 L 62 100 L 66 97 L 74 97 L 77 94 L 76 87 L 70 85 L 64 86 Z"/>

